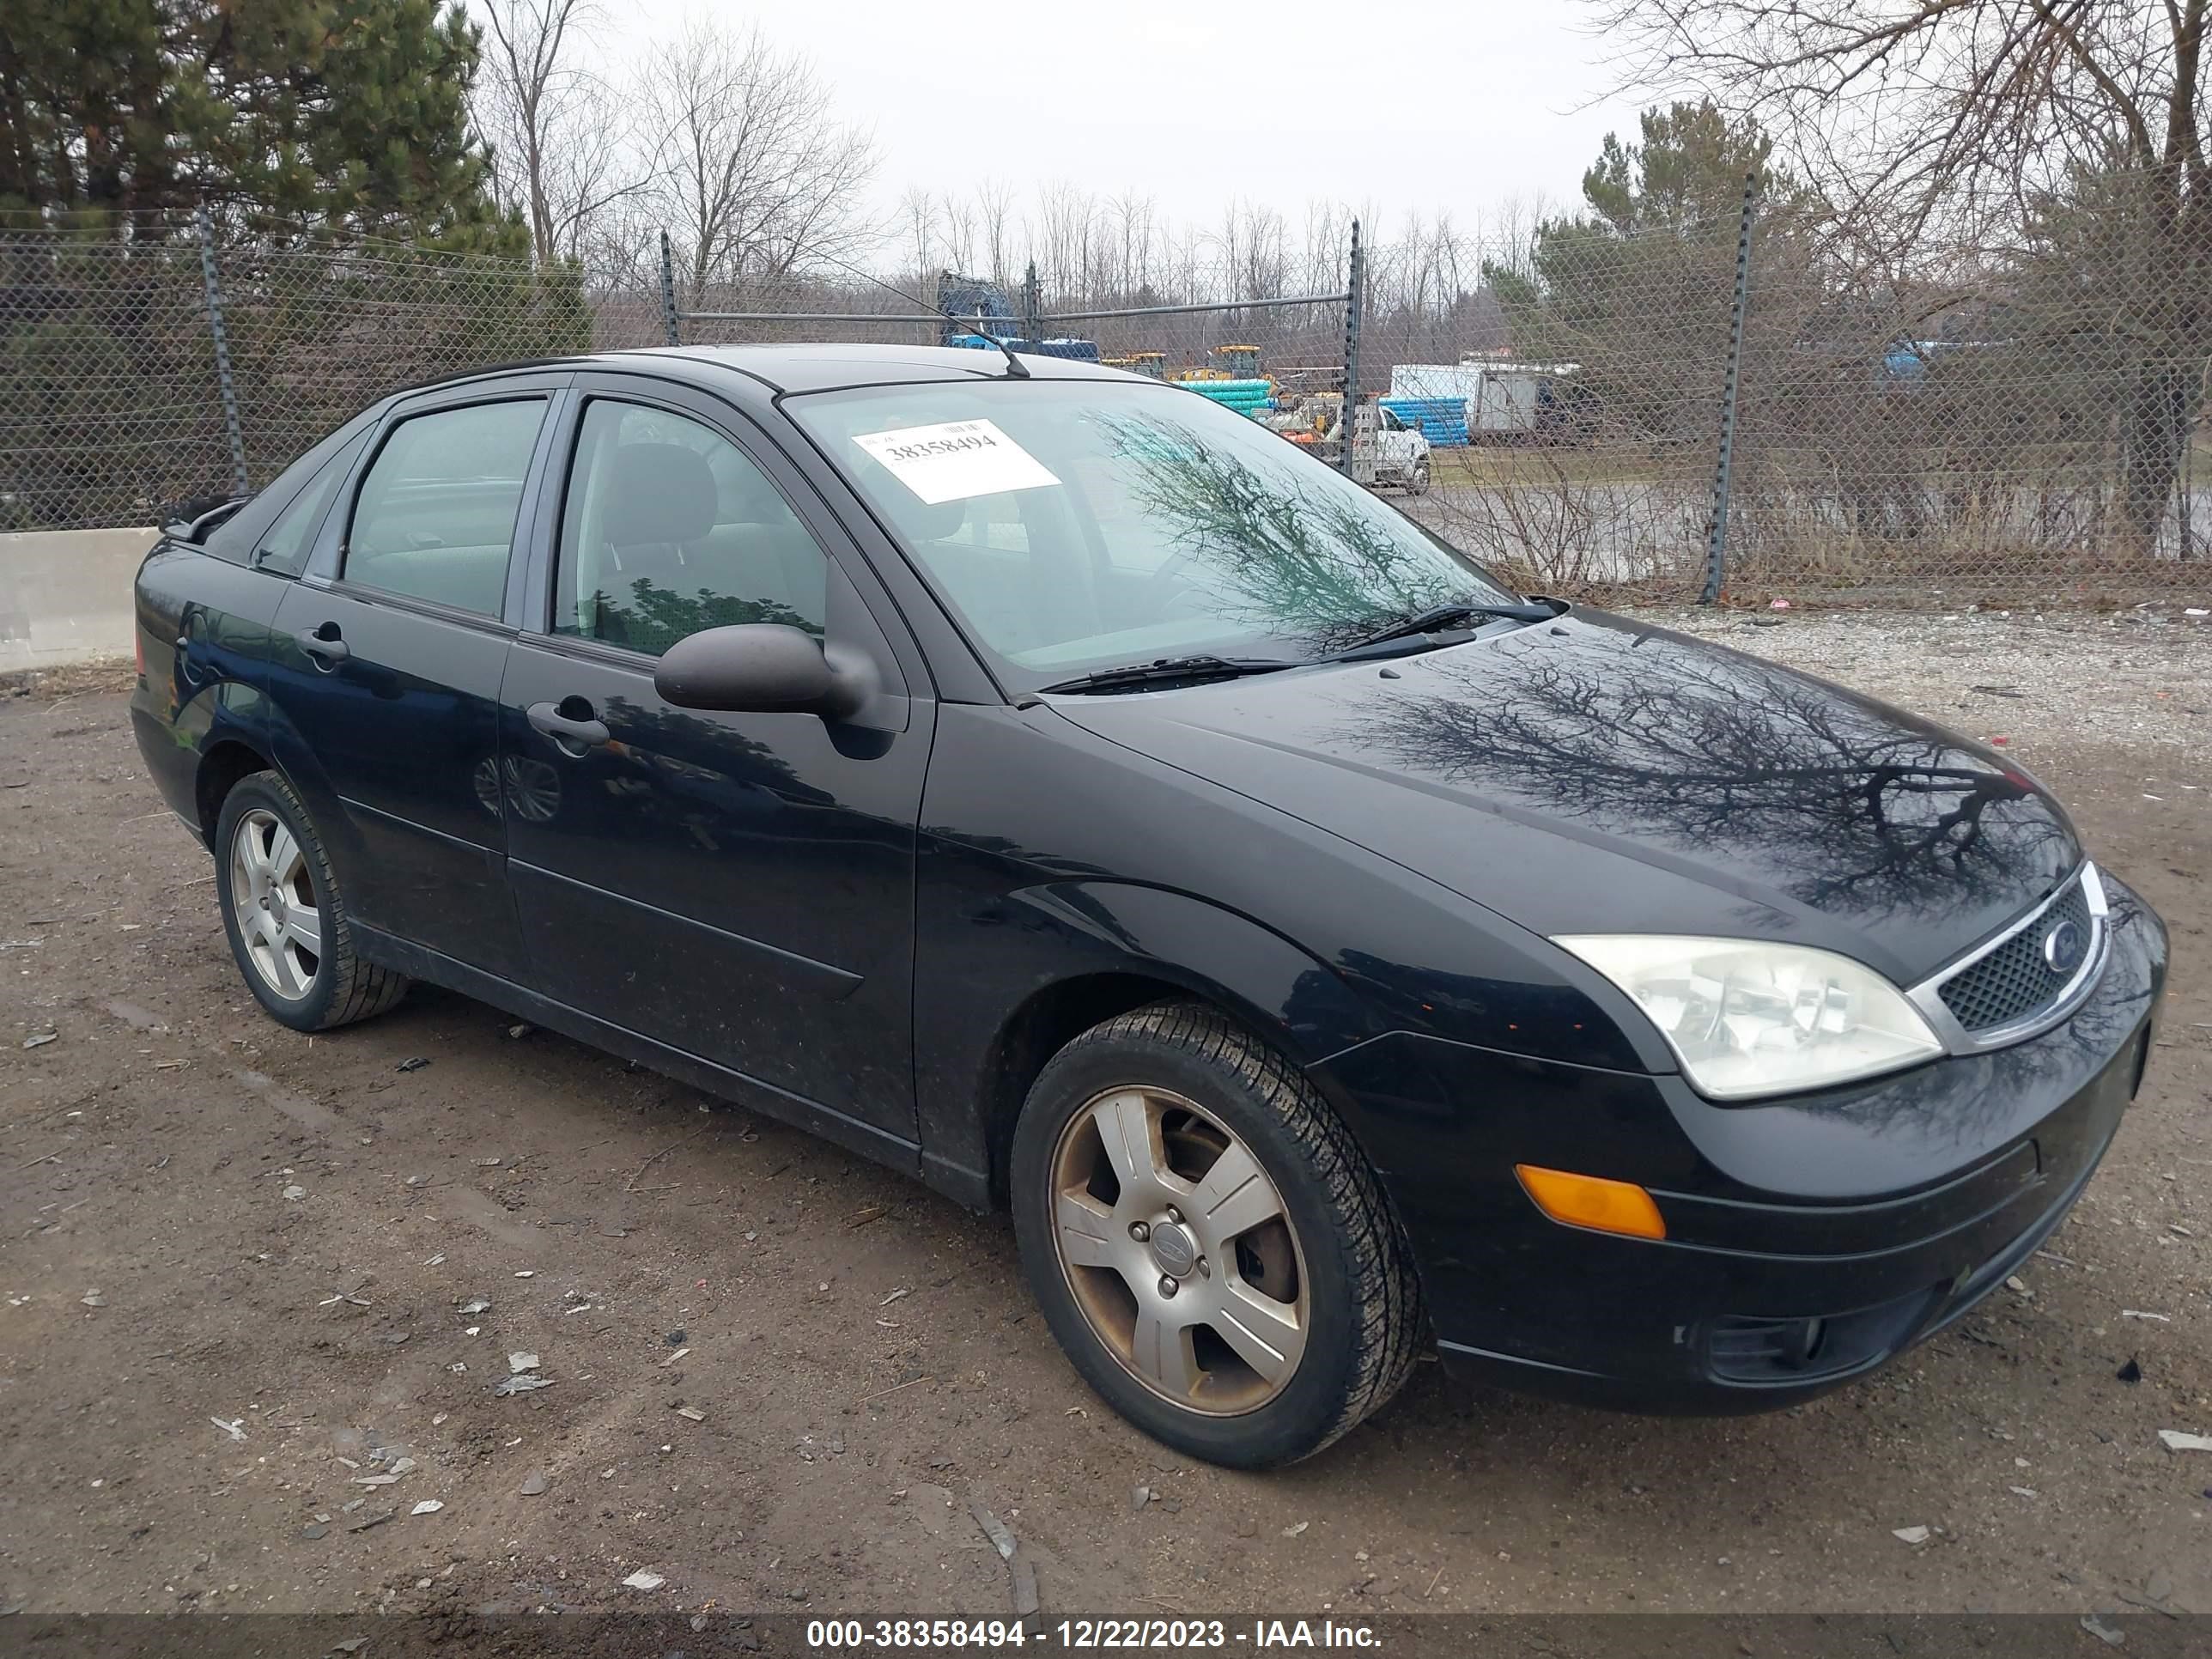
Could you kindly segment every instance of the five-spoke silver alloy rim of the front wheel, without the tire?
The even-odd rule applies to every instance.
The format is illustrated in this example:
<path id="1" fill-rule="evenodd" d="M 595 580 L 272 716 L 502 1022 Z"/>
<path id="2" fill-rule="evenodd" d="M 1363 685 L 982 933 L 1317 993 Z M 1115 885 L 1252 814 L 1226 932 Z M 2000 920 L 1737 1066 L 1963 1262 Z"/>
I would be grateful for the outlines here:
<path id="1" fill-rule="evenodd" d="M 1305 1254 L 1283 1194 L 1221 1119 L 1164 1088 L 1088 1099 L 1053 1148 L 1053 1250 L 1093 1334 L 1206 1416 L 1274 1400 L 1305 1356 Z"/>

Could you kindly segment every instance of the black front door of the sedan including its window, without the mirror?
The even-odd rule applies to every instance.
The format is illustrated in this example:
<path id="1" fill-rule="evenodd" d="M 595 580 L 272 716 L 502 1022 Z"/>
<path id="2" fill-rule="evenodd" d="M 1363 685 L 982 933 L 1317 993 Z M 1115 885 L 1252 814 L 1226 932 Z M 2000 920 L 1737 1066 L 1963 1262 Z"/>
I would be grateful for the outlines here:
<path id="1" fill-rule="evenodd" d="M 838 529 L 787 462 L 721 405 L 639 387 L 659 383 L 580 387 L 546 626 L 507 666 L 509 876 L 531 982 L 772 1091 L 785 1115 L 911 1146 L 933 706 L 907 697 L 827 551 Z M 838 723 L 655 695 L 661 650 L 737 622 L 863 648 L 887 690 Z"/>

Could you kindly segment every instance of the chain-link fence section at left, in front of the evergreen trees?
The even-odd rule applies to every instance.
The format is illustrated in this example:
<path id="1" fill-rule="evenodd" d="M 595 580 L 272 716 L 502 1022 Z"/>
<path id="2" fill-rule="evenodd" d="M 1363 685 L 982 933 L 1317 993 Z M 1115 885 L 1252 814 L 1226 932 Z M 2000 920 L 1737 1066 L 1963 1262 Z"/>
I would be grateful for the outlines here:
<path id="1" fill-rule="evenodd" d="M 659 343 L 650 307 L 604 299 L 575 268 L 407 246 L 0 223 L 0 529 L 150 524 L 265 484 L 398 387 Z"/>

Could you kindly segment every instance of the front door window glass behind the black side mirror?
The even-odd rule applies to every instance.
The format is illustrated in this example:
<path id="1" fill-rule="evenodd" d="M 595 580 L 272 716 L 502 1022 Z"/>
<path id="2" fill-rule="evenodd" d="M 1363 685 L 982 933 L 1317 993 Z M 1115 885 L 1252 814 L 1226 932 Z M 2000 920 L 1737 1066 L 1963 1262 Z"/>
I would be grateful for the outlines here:
<path id="1" fill-rule="evenodd" d="M 701 628 L 823 637 L 830 557 L 752 460 L 666 409 L 584 405 L 553 630 L 661 655 Z"/>

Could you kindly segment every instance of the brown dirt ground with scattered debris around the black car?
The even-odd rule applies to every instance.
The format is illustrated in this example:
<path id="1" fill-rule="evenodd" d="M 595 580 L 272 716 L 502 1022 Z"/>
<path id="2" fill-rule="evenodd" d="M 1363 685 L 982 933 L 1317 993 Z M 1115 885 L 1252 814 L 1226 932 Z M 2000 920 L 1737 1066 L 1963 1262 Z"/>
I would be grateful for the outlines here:
<path id="1" fill-rule="evenodd" d="M 2033 677 L 2002 710 L 2174 929 L 2146 1093 L 2022 1290 L 1763 1418 L 1422 1365 L 1265 1478 L 1108 1413 L 995 1217 L 456 995 L 279 1029 L 124 699 L 0 699 L 0 1608 L 1002 1617 L 973 1502 L 1048 1617 L 2212 1613 L 2212 1453 L 2159 1442 L 2212 1433 L 2199 670 L 2141 741 Z M 551 1387 L 495 1396 L 515 1352 Z"/>

